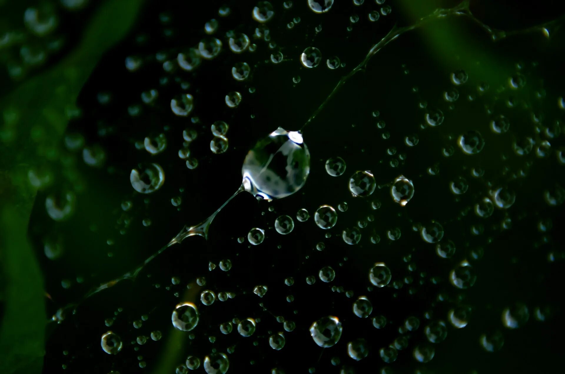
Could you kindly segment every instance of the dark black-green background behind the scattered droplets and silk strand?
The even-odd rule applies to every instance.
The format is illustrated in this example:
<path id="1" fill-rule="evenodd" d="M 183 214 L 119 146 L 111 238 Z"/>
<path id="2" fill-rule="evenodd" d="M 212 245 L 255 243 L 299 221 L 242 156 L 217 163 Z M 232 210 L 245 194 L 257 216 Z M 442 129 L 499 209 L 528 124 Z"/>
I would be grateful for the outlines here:
<path id="1" fill-rule="evenodd" d="M 226 2 L 231 8 L 227 18 L 218 16 L 223 3 L 147 2 L 129 36 L 97 63 L 77 101 L 82 115 L 69 122 L 66 134 L 81 134 L 86 146 L 101 146 L 105 164 L 89 167 L 82 162 L 81 152 L 64 150 L 60 142 L 60 158 L 45 166 L 54 173 L 56 182 L 38 192 L 29 223 L 48 294 L 48 316 L 80 300 L 93 286 L 136 268 L 184 224 L 197 224 L 215 211 L 240 185 L 241 164 L 250 147 L 277 127 L 301 128 L 340 77 L 357 66 L 394 24 L 414 24 L 435 8 L 458 2 L 387 1 L 384 5 L 392 7 L 392 12 L 381 15 L 375 23 L 368 21 L 367 14 L 381 6 L 369 0 L 360 7 L 350 1 L 336 1 L 323 15 L 312 13 L 306 1 L 294 1 L 290 10 L 282 3 L 272 3 L 275 15 L 266 25 L 271 42 L 276 43 L 273 50 L 269 42 L 252 36 L 258 26 L 251 19 L 255 2 Z M 236 373 L 269 372 L 275 367 L 286 373 L 308 372 L 310 368 L 331 373 L 342 367 L 363 373 L 378 372 L 385 366 L 398 373 L 416 369 L 436 373 L 562 372 L 564 215 L 562 206 L 547 205 L 543 196 L 545 190 L 555 190 L 564 182 L 564 166 L 556 155 L 563 147 L 563 134 L 554 138 L 546 135 L 547 128 L 563 130 L 563 110 L 556 103 L 563 95 L 564 34 L 557 22 L 549 28 L 549 38 L 538 28 L 493 42 L 477 20 L 510 32 L 555 20 L 565 12 L 565 6 L 561 2 L 519 5 L 471 1 L 471 11 L 474 20 L 450 16 L 403 34 L 373 56 L 366 70 L 346 82 L 304 129 L 311 171 L 298 193 L 271 203 L 258 202 L 246 193 L 238 195 L 214 220 L 208 241 L 201 237 L 186 239 L 159 255 L 135 282 L 120 282 L 80 302 L 75 311 L 66 309 L 61 323 L 47 324 L 43 372 L 60 372 L 64 366 L 63 372 L 106 373 L 113 369 L 120 373 L 172 373 L 189 354 L 203 361 L 213 349 L 227 353 L 228 347 L 234 347 L 233 354 L 228 355 L 229 372 Z M 353 14 L 359 15 L 359 21 L 347 31 Z M 288 29 L 286 24 L 295 17 L 300 18 L 299 23 Z M 165 72 L 155 55 L 163 53 L 175 62 L 179 51 L 196 46 L 205 37 L 203 26 L 211 18 L 220 21 L 216 33 L 223 42 L 220 55 L 202 61 L 194 73 L 179 68 Z M 322 31 L 316 34 L 319 24 Z M 64 23 L 64 29 L 68 29 L 71 40 L 80 34 L 79 24 Z M 246 33 L 257 44 L 257 51 L 232 53 L 224 36 L 228 30 Z M 314 69 L 299 63 L 301 51 L 308 46 L 318 47 L 323 55 L 323 62 Z M 267 62 L 276 50 L 284 54 L 285 61 Z M 337 55 L 345 67 L 328 69 L 325 59 L 332 55 Z M 138 71 L 125 69 L 127 56 L 143 60 Z M 244 82 L 231 77 L 231 67 L 238 61 L 252 67 L 251 77 Z M 464 69 L 469 79 L 457 86 L 459 99 L 450 108 L 443 93 L 453 87 L 450 74 L 458 69 Z M 509 79 L 518 72 L 526 84 L 512 90 Z M 301 80 L 293 84 L 296 76 Z M 188 82 L 188 90 L 183 90 L 180 82 Z M 477 87 L 485 83 L 489 89 L 479 92 Z M 249 92 L 250 87 L 255 88 L 254 93 Z M 149 89 L 159 92 L 152 106 L 140 99 L 141 92 Z M 236 110 L 224 103 L 225 94 L 233 90 L 243 95 Z M 101 92 L 111 94 L 108 105 L 97 101 Z M 193 122 L 171 112 L 171 98 L 183 92 L 194 97 Z M 514 107 L 507 105 L 509 100 L 515 102 Z M 425 108 L 420 107 L 423 102 L 427 103 Z M 141 107 L 140 115 L 128 114 L 128 107 L 133 105 Z M 444 112 L 444 123 L 436 128 L 420 127 L 431 108 Z M 379 111 L 378 118 L 372 116 L 373 111 Z M 506 134 L 494 134 L 489 129 L 490 120 L 498 114 L 510 120 Z M 533 118 L 540 117 L 540 123 L 535 123 Z M 212 154 L 208 145 L 212 139 L 210 125 L 216 120 L 229 124 L 229 149 L 220 155 Z M 379 120 L 386 124 L 383 129 L 376 126 Z M 185 128 L 198 132 L 190 145 L 199 163 L 194 170 L 186 168 L 177 156 Z M 470 130 L 479 131 L 485 140 L 484 149 L 476 155 L 463 154 L 456 144 L 457 137 Z M 150 155 L 134 146 L 146 136 L 159 133 L 167 137 L 167 149 L 162 154 Z M 388 134 L 386 139 L 384 133 Z M 404 138 L 412 133 L 418 134 L 418 145 L 407 147 Z M 530 154 L 518 156 L 512 144 L 524 137 L 532 137 L 535 144 Z M 544 140 L 551 143 L 551 153 L 538 158 L 535 149 Z M 454 154 L 446 158 L 442 149 L 450 146 Z M 387 153 L 390 147 L 396 147 L 393 155 Z M 325 160 L 332 156 L 345 159 L 344 175 L 331 177 L 325 172 Z M 393 159 L 398 166 L 390 166 Z M 129 173 L 138 164 L 149 162 L 163 167 L 166 180 L 158 192 L 141 195 L 132 189 Z M 438 172 L 429 175 L 428 168 Z M 473 178 L 472 168 L 482 168 L 484 175 Z M 368 198 L 353 198 L 347 188 L 349 176 L 366 169 L 375 175 L 377 189 Z M 524 176 L 516 176 L 520 173 Z M 392 201 L 388 186 L 399 175 L 411 179 L 415 186 L 414 198 L 403 208 Z M 459 197 L 449 191 L 449 182 L 457 176 L 463 176 L 469 184 L 468 192 Z M 495 208 L 487 219 L 473 214 L 475 203 L 498 186 L 516 193 L 514 205 L 507 210 Z M 76 194 L 76 209 L 68 220 L 55 222 L 46 214 L 45 199 L 68 190 Z M 178 210 L 171 205 L 171 198 L 176 196 L 182 198 Z M 128 212 L 120 208 L 126 200 L 133 203 Z M 378 210 L 371 209 L 374 200 L 381 202 Z M 347 202 L 349 208 L 338 211 L 337 225 L 329 230 L 331 237 L 325 238 L 326 232 L 314 224 L 314 212 L 323 204 L 337 210 L 341 202 Z M 294 231 L 287 236 L 278 234 L 273 229 L 275 219 L 283 214 L 295 218 L 299 208 L 306 208 L 311 218 L 304 223 L 295 220 Z M 361 229 L 360 243 L 346 245 L 341 231 L 368 215 L 373 215 L 374 221 Z M 129 227 L 124 226 L 124 219 L 131 220 Z M 144 219 L 151 220 L 149 227 L 142 224 Z M 509 229 L 502 228 L 505 219 L 511 221 Z M 425 243 L 413 231 L 412 227 L 431 220 L 443 225 L 444 241 L 455 242 L 453 258 L 437 256 L 434 245 Z M 540 220 L 551 221 L 553 229 L 540 232 Z M 247 241 L 238 243 L 237 238 L 246 237 L 253 227 L 266 230 L 264 242 L 258 246 Z M 471 227 L 482 227 L 483 232 L 473 235 Z M 393 228 L 401 230 L 399 240 L 388 239 L 386 232 Z M 120 229 L 125 232 L 121 234 Z M 369 240 L 373 234 L 380 237 L 376 245 Z M 46 241 L 59 243 L 63 249 L 60 258 L 45 256 Z M 113 244 L 108 245 L 108 241 Z M 324 251 L 315 250 L 320 241 L 325 243 Z M 484 255 L 473 259 L 477 249 Z M 548 260 L 550 254 L 555 261 Z M 209 262 L 218 265 L 221 259 L 232 261 L 230 271 L 223 272 L 219 267 L 208 271 Z M 459 290 L 450 284 L 448 275 L 464 259 L 472 263 L 477 281 L 472 288 Z M 393 281 L 386 288 L 368 288 L 368 271 L 375 262 L 385 262 L 392 271 Z M 415 271 L 410 271 L 409 265 Z M 324 266 L 336 270 L 336 278 L 328 284 L 317 276 Z M 313 285 L 305 281 L 310 275 L 317 278 Z M 179 285 L 171 284 L 173 276 L 180 278 Z M 407 276 L 413 279 L 411 284 L 405 282 Z M 206 285 L 195 285 L 198 277 L 205 277 Z M 294 278 L 293 286 L 284 284 L 286 277 Z M 68 289 L 62 287 L 63 280 L 71 284 Z M 402 287 L 394 288 L 394 281 Z M 187 284 L 193 286 L 192 290 L 186 289 Z M 256 285 L 268 286 L 263 298 L 253 294 Z M 333 291 L 332 286 L 342 287 L 344 292 Z M 203 306 L 199 292 L 204 289 L 216 294 L 233 292 L 236 297 L 225 302 L 216 299 L 213 305 Z M 353 291 L 353 297 L 346 297 L 347 290 Z M 291 294 L 294 302 L 286 302 Z M 360 295 L 372 302 L 371 316 L 386 316 L 384 329 L 375 329 L 370 318 L 353 314 L 351 306 Z M 182 301 L 198 305 L 200 321 L 192 331 L 193 339 L 187 337 L 190 333 L 173 330 L 170 323 L 173 308 Z M 506 329 L 502 310 L 515 303 L 528 306 L 529 320 L 519 329 Z M 468 326 L 455 329 L 448 323 L 447 339 L 434 345 L 431 362 L 416 362 L 412 350 L 425 342 L 424 315 L 447 321 L 447 311 L 460 305 L 472 308 Z M 534 318 L 536 307 L 546 311 L 545 321 Z M 142 315 L 149 319 L 140 329 L 133 328 L 133 321 Z M 336 346 L 323 350 L 312 341 L 308 328 L 327 315 L 338 316 L 344 329 Z M 284 331 L 276 316 L 297 326 L 293 332 L 285 332 L 286 345 L 280 351 L 268 345 L 270 334 Z M 409 316 L 416 316 L 420 327 L 406 333 L 410 343 L 399 351 L 396 362 L 383 363 L 379 349 L 401 335 L 398 327 Z M 105 319 L 112 317 L 116 317 L 113 325 L 106 327 Z M 241 337 L 235 325 L 231 334 L 221 334 L 219 324 L 233 318 L 260 322 L 249 338 Z M 118 355 L 106 354 L 99 345 L 99 337 L 107 330 L 123 340 Z M 163 333 L 160 341 L 134 343 L 137 336 L 149 337 L 154 330 Z M 504 345 L 500 351 L 488 353 L 481 347 L 479 336 L 496 331 L 503 333 Z M 210 336 L 216 337 L 215 343 L 208 340 Z M 346 351 L 347 342 L 356 338 L 366 339 L 369 347 L 367 358 L 359 362 L 349 358 Z M 341 359 L 336 367 L 331 364 L 334 356 Z M 146 362 L 145 368 L 138 366 L 141 361 Z M 203 372 L 202 366 L 198 370 Z"/>

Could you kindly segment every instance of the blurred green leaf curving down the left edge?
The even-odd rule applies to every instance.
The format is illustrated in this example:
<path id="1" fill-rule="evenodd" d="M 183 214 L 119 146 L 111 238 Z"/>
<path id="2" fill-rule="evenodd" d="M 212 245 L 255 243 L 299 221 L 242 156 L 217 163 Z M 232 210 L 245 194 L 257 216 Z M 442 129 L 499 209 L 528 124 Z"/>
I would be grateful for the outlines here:
<path id="1" fill-rule="evenodd" d="M 102 55 L 131 29 L 141 0 L 100 5 L 75 50 L 0 100 L 0 372 L 41 372 L 45 353 L 45 292 L 28 243 L 36 190 L 30 167 L 56 160 L 67 127 L 66 112 Z"/>

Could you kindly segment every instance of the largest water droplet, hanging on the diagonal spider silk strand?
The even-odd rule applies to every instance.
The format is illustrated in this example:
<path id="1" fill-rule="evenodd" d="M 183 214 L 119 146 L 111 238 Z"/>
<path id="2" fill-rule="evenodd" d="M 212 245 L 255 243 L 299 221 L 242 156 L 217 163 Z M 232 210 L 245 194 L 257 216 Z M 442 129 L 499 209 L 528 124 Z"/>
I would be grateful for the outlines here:
<path id="1" fill-rule="evenodd" d="M 247 192 L 279 199 L 297 192 L 310 173 L 310 153 L 299 132 L 278 128 L 247 153 L 241 169 Z"/>

